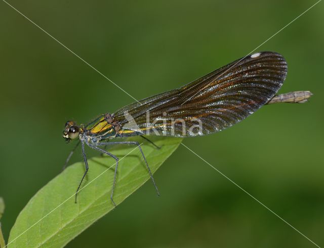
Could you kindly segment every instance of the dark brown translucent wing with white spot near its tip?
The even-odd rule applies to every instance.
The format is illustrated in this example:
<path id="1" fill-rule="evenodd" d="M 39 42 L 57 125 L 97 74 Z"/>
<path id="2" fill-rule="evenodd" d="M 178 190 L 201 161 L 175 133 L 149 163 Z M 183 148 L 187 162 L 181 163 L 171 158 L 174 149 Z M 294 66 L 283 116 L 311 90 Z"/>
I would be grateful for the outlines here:
<path id="1" fill-rule="evenodd" d="M 132 135 L 127 130 L 176 137 L 211 134 L 245 119 L 267 103 L 286 75 L 287 63 L 280 54 L 256 53 L 177 90 L 121 108 L 114 118 L 125 135 Z"/>

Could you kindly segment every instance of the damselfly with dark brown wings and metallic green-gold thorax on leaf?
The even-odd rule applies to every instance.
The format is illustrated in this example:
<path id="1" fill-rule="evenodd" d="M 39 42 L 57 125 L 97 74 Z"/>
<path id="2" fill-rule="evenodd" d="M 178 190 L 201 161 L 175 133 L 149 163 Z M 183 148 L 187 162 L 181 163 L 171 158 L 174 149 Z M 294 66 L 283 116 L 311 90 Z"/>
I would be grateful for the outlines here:
<path id="1" fill-rule="evenodd" d="M 282 86 L 286 75 L 287 63 L 280 54 L 255 53 L 225 65 L 179 89 L 145 98 L 112 114 L 102 114 L 88 125 L 77 126 L 74 121 L 67 121 L 63 137 L 66 141 L 79 140 L 77 145 L 81 144 L 86 166 L 75 193 L 75 201 L 89 170 L 85 145 L 116 160 L 110 194 L 114 205 L 113 190 L 116 184 L 118 158 L 105 150 L 104 147 L 109 145 L 137 146 L 158 194 L 140 144 L 134 141 L 110 140 L 130 136 L 145 138 L 143 135 L 193 137 L 222 131 L 268 103 Z M 69 154 L 65 166 L 73 151 Z"/>

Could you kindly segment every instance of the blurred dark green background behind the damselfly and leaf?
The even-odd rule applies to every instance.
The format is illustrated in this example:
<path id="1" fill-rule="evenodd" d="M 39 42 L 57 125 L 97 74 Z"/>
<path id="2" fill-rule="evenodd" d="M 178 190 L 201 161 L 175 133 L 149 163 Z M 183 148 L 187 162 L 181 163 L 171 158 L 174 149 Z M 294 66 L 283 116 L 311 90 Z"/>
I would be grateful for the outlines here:
<path id="1" fill-rule="evenodd" d="M 136 99 L 178 88 L 247 55 L 314 1 L 9 1 Z M 60 173 L 66 120 L 133 102 L 4 2 L 0 3 L 0 196 L 9 231 Z M 265 106 L 221 133 L 184 140 L 268 208 L 324 245 L 324 3 L 257 51 L 288 61 L 280 93 L 307 104 Z M 78 152 L 72 159 L 79 161 Z M 91 171 L 91 169 L 90 169 Z M 315 247 L 185 147 L 68 247 Z M 78 182 L 66 182 L 66 184 Z M 108 196 L 107 196 L 108 200 Z"/>

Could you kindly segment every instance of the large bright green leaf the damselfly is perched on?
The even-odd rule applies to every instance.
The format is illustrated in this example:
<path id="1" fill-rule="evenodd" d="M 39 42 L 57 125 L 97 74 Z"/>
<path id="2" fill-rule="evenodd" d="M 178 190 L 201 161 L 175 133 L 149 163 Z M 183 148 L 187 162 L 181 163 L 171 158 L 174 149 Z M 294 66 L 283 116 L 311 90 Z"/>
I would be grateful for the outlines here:
<path id="1" fill-rule="evenodd" d="M 182 139 L 154 137 L 152 140 L 161 148 L 156 149 L 144 141 L 142 149 L 154 173 Z M 109 151 L 120 159 L 113 196 L 118 205 L 150 177 L 135 146 L 118 146 Z M 76 204 L 74 193 L 85 171 L 83 162 L 69 166 L 45 185 L 19 214 L 10 232 L 9 247 L 62 247 L 111 211 L 114 208 L 110 201 L 114 163 L 110 157 L 89 159 L 89 172 L 82 185 L 85 188 L 78 193 Z"/>

